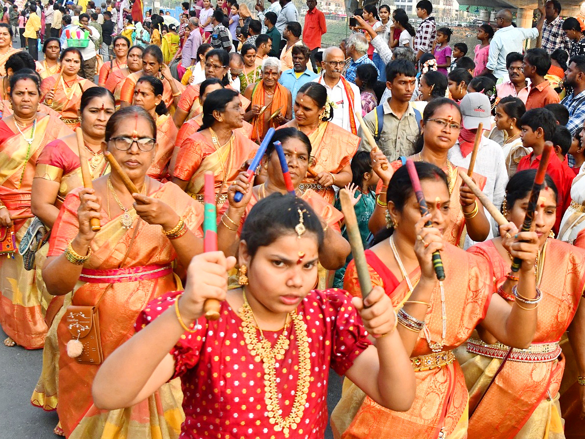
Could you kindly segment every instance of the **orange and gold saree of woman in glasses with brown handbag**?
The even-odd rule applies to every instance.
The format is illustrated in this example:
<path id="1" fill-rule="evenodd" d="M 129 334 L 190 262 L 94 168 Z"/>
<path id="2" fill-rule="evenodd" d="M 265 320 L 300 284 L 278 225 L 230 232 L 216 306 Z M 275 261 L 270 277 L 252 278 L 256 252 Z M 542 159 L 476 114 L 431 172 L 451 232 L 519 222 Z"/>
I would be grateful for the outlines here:
<path id="1" fill-rule="evenodd" d="M 199 236 L 203 209 L 173 183 L 163 184 L 150 196 L 170 205 Z M 49 255 L 64 251 L 77 234 L 77 191 L 69 194 L 61 207 L 50 238 Z M 122 229 L 119 217 L 102 216 L 102 229 L 91 243 L 92 255 L 77 282 L 72 304 L 97 306 L 101 326 L 101 344 L 106 358 L 130 338 L 133 325 L 146 304 L 180 287 L 170 270 L 176 252 L 161 232 L 160 225 L 136 219 L 132 229 Z M 136 231 L 136 228 L 137 231 Z M 136 234 L 135 238 L 133 235 Z M 125 280 L 126 282 L 113 282 Z M 91 280 L 92 282 L 83 282 Z M 91 385 L 98 366 L 78 363 L 69 358 L 66 344 L 71 339 L 64 319 L 57 328 L 59 340 L 59 406 L 57 413 L 70 438 L 144 437 L 145 431 L 157 438 L 176 438 L 183 420 L 181 394 L 163 385 L 152 397 L 129 409 L 105 411 L 92 405 Z M 142 433 L 140 433 L 142 432 Z"/>

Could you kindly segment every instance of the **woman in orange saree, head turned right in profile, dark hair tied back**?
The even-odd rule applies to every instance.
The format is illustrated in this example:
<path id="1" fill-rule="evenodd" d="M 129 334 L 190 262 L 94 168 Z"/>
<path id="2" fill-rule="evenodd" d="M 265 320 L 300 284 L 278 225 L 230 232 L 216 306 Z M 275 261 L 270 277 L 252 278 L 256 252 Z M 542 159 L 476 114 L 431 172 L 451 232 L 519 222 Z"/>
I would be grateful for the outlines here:
<path id="1" fill-rule="evenodd" d="M 216 204 L 221 206 L 242 165 L 258 148 L 238 131 L 244 114 L 238 95 L 228 89 L 209 93 L 203 107 L 203 125 L 184 140 L 171 160 L 174 183 L 201 203 L 205 172 L 214 173 Z"/>

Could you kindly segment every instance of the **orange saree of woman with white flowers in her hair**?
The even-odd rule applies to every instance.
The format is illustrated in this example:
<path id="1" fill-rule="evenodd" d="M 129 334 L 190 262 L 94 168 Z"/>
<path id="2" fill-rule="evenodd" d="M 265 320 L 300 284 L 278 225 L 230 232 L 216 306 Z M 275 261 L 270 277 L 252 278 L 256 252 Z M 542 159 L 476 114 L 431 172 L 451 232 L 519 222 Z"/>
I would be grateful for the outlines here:
<path id="1" fill-rule="evenodd" d="M 313 165 L 315 172 L 331 172 L 333 174 L 339 173 L 351 162 L 361 140 L 332 122 L 323 122 L 308 137 L 311 140 L 311 157 L 315 162 Z M 302 184 L 314 183 L 315 180 L 310 178 L 302 180 Z M 333 204 L 335 201 L 333 187 L 321 186 L 321 189 L 316 191 L 329 203 Z"/>

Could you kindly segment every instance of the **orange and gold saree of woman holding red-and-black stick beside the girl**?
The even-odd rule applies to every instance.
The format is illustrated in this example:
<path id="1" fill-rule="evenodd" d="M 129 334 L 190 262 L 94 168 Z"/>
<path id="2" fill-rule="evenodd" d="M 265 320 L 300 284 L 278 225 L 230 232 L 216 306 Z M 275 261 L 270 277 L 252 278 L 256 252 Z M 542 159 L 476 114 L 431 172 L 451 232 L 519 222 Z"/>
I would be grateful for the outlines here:
<path id="1" fill-rule="evenodd" d="M 443 283 L 447 313 L 443 351 L 448 352 L 463 344 L 485 317 L 494 291 L 493 272 L 482 258 L 469 255 L 449 244 L 445 246 L 441 256 L 445 265 L 446 279 Z M 350 266 L 347 270 L 350 270 Z M 378 273 L 380 274 L 384 276 L 383 273 Z M 389 283 L 391 282 L 390 280 Z M 408 286 L 402 280 L 391 294 L 394 306 L 400 306 L 408 295 Z M 442 335 L 442 318 L 438 286 L 433 291 L 430 303 L 431 308 L 425 321 L 431 340 L 439 341 Z M 415 363 L 415 357 L 429 354 L 432 354 L 431 349 L 421 331 L 412 351 L 412 361 Z M 388 410 L 366 396 L 349 428 L 345 431 L 343 426 L 338 428 L 340 437 L 436 439 L 441 431 L 448 438 L 466 437 L 467 388 L 459 364 L 451 362 L 427 371 L 418 368 L 415 370 L 417 390 L 410 410 Z"/>

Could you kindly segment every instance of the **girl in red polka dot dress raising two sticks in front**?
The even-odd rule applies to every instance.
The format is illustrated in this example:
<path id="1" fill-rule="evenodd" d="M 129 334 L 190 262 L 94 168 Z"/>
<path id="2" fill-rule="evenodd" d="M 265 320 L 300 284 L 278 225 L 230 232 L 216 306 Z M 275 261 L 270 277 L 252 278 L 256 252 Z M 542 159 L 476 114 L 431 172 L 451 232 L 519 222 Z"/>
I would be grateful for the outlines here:
<path id="1" fill-rule="evenodd" d="M 414 372 L 384 290 L 371 291 L 367 308 L 343 290 L 311 290 L 323 241 L 311 207 L 266 197 L 241 238 L 241 287 L 226 293 L 233 257 L 195 256 L 185 290 L 151 302 L 101 366 L 95 405 L 132 406 L 179 376 L 181 438 L 323 438 L 331 366 L 384 407 L 408 410 Z M 222 300 L 218 321 L 205 320 L 206 299 Z"/>

